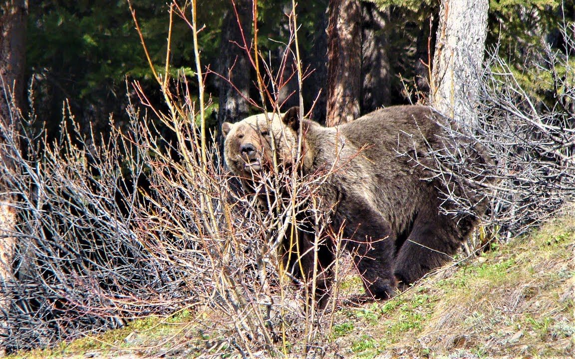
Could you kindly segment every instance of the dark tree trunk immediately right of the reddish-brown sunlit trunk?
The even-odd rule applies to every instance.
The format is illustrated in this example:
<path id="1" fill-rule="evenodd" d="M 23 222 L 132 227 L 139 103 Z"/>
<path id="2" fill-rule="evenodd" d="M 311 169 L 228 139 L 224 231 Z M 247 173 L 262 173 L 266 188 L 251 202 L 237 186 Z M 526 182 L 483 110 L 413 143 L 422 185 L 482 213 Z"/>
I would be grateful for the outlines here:
<path id="1" fill-rule="evenodd" d="M 380 11 L 374 3 L 362 2 L 362 94 L 361 113 L 369 113 L 390 104 L 391 79 L 388 36 L 385 26 L 389 11 Z"/>

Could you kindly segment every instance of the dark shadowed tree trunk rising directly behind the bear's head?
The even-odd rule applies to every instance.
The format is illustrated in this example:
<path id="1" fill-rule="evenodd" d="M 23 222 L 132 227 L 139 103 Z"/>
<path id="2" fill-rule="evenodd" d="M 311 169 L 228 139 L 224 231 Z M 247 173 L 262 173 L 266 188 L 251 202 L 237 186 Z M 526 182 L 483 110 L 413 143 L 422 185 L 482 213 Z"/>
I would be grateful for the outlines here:
<path id="1" fill-rule="evenodd" d="M 224 122 L 237 122 L 248 114 L 248 101 L 250 90 L 250 61 L 248 51 L 244 49 L 244 38 L 247 46 L 251 41 L 252 3 L 249 0 L 236 0 L 237 16 L 230 6 L 224 16 L 221 28 L 220 58 L 218 59 L 218 72 L 227 80 L 220 79 L 220 108 L 218 110 L 218 126 Z M 241 24 L 241 28 L 238 24 Z M 223 144 L 223 137 L 218 136 Z"/>

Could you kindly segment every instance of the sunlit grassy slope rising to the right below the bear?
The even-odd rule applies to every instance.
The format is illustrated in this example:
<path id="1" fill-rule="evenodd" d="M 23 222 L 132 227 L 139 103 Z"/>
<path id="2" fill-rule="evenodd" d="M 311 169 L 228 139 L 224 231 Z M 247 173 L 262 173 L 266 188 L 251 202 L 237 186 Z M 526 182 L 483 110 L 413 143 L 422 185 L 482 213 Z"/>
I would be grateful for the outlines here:
<path id="1" fill-rule="evenodd" d="M 573 357 L 574 275 L 571 217 L 373 307 L 377 321 L 346 334 L 354 344 L 345 354 Z"/>

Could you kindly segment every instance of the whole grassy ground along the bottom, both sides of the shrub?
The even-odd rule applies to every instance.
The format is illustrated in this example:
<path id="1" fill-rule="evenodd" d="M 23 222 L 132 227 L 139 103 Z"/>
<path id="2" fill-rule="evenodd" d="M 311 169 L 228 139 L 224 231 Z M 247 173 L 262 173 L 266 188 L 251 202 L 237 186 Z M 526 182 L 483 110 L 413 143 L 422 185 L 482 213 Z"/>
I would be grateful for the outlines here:
<path id="1" fill-rule="evenodd" d="M 186 330 L 185 318 L 141 319 L 10 358 L 241 357 L 206 348 L 194 335 L 209 334 Z M 575 357 L 575 213 L 442 268 L 392 300 L 340 308 L 332 320 L 324 358 Z"/>

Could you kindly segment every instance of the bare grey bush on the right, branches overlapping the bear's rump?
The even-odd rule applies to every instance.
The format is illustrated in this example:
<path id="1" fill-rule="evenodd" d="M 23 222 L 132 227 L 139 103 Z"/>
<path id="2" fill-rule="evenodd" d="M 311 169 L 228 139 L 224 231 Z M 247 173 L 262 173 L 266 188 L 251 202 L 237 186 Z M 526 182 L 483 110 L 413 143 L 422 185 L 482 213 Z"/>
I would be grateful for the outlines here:
<path id="1" fill-rule="evenodd" d="M 564 26 L 563 51 L 546 47 L 545 63 L 524 70 L 543 83 L 545 93 L 522 86 L 517 72 L 493 50 L 481 79 L 478 122 L 448 126 L 445 148 L 434 151 L 436 175 L 447 188 L 461 181 L 474 188 L 444 194 L 444 211 L 474 214 L 470 196 L 488 197 L 490 229 L 509 238 L 575 201 L 574 31 L 573 24 Z M 477 150 L 493 163 L 473 163 Z"/>

